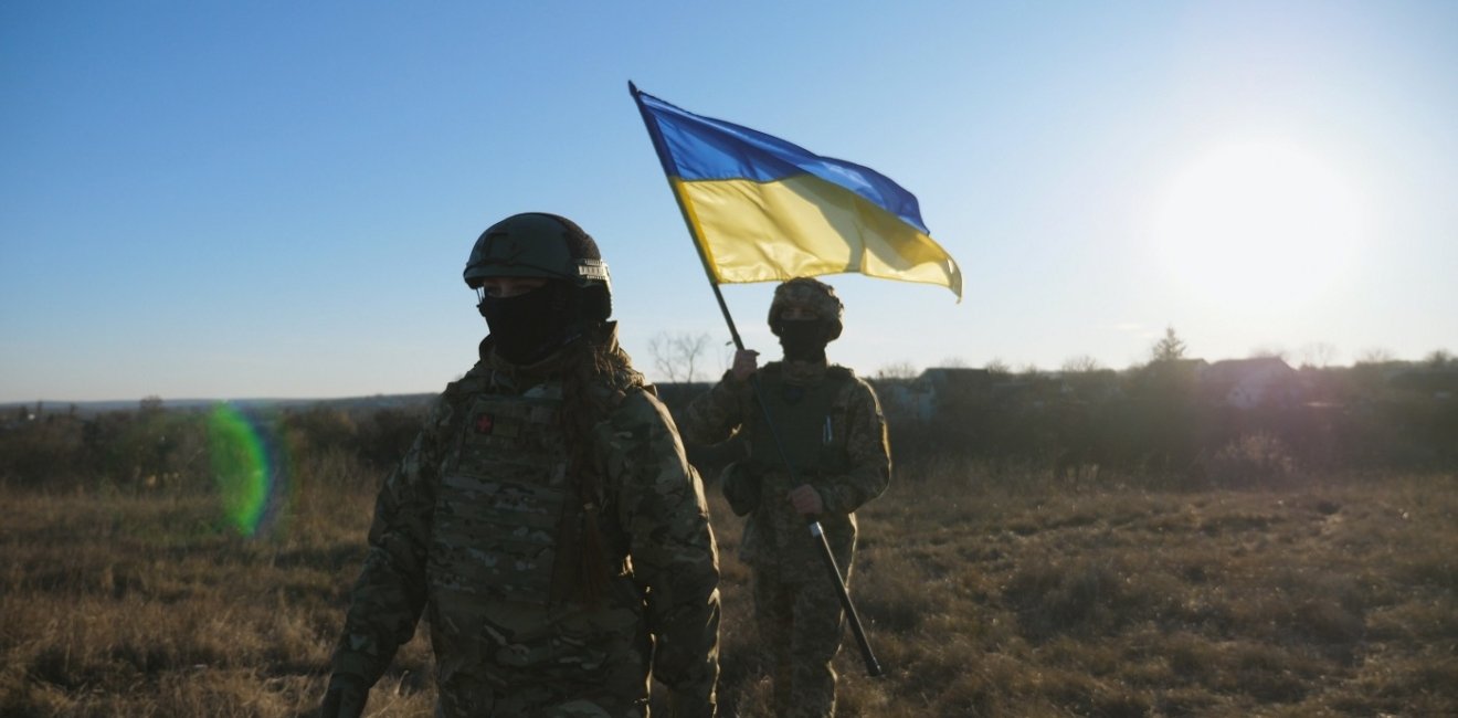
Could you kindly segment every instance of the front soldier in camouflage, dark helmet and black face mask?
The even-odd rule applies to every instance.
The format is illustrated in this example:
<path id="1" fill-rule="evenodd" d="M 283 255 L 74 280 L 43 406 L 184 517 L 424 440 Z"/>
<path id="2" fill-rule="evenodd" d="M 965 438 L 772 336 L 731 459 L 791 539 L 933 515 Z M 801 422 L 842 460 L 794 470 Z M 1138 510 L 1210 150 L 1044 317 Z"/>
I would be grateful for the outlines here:
<path id="1" fill-rule="evenodd" d="M 385 482 L 322 715 L 356 717 L 424 611 L 440 717 L 714 715 L 719 559 L 697 473 L 618 347 L 577 225 L 516 215 L 465 280 L 490 325 Z"/>

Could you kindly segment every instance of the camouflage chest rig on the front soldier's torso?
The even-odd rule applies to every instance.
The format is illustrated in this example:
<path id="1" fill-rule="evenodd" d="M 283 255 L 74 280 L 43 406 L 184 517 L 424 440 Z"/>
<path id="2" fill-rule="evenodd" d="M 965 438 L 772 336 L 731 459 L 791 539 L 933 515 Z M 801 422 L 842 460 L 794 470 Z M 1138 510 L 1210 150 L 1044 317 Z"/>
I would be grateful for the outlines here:
<path id="1" fill-rule="evenodd" d="M 576 518 L 561 384 L 464 403 L 442 471 L 430 547 L 432 590 L 545 606 Z"/>

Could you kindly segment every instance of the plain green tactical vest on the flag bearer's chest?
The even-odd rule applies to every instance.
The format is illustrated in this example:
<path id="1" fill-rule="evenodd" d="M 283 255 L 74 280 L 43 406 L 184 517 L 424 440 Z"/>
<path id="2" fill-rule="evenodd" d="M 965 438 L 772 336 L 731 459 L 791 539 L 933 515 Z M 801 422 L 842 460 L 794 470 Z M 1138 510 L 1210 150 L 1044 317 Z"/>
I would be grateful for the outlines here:
<path id="1" fill-rule="evenodd" d="M 819 474 L 846 471 L 846 407 L 835 400 L 843 394 L 851 374 L 843 366 L 831 366 L 825 378 L 815 384 L 790 384 L 779 366 L 760 371 L 760 401 L 764 410 L 748 420 L 749 461 L 760 473 L 784 470 L 784 458 L 776 448 L 774 435 L 800 480 Z M 765 420 L 765 410 L 774 422 L 774 435 Z"/>

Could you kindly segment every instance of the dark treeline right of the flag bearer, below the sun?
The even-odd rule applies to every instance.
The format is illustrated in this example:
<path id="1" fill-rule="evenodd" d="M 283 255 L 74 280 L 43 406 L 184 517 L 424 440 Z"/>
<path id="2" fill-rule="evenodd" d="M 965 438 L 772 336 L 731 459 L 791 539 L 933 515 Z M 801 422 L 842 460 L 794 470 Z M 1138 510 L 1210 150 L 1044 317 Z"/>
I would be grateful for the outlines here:
<path id="1" fill-rule="evenodd" d="M 1257 395 L 1185 359 L 1124 372 L 983 372 L 937 387 L 930 412 L 897 403 L 916 382 L 881 382 L 881 394 L 898 458 L 955 455 L 1070 480 L 1115 471 L 1239 486 L 1458 467 L 1458 365 L 1270 366 L 1284 374 Z"/>

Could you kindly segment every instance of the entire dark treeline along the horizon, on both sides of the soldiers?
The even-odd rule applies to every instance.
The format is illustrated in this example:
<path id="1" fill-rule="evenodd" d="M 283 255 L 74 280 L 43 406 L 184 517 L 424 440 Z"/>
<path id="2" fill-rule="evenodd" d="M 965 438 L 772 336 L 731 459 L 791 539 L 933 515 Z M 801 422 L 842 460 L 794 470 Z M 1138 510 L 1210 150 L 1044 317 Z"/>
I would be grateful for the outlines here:
<path id="1" fill-rule="evenodd" d="M 1346 468 L 1458 467 L 1458 363 L 1303 368 L 1236 406 L 1210 365 L 1185 359 L 1057 374 L 951 369 L 872 379 L 898 464 L 952 458 L 991 471 L 1070 480 L 1117 473 L 1163 485 L 1239 486 Z M 932 381 L 942 377 L 940 382 Z M 671 410 L 707 384 L 659 387 Z M 19 407 L 0 416 L 0 483 L 69 489 L 207 487 L 214 431 L 230 413 L 267 445 L 274 470 L 372 485 L 414 441 L 427 400 L 319 403 L 241 412 L 169 409 L 82 416 Z M 733 444 L 688 447 L 713 480 Z"/>

